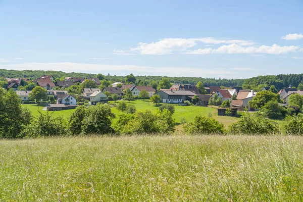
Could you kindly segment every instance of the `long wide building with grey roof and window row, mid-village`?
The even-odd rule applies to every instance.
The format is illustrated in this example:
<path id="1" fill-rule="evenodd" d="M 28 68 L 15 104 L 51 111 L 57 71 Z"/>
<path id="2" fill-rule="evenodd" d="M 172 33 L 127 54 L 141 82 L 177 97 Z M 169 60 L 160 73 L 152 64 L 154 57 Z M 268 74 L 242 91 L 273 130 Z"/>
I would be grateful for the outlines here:
<path id="1" fill-rule="evenodd" d="M 195 93 L 189 90 L 160 90 L 155 94 L 160 95 L 162 103 L 183 103 L 185 100 L 191 100 Z"/>

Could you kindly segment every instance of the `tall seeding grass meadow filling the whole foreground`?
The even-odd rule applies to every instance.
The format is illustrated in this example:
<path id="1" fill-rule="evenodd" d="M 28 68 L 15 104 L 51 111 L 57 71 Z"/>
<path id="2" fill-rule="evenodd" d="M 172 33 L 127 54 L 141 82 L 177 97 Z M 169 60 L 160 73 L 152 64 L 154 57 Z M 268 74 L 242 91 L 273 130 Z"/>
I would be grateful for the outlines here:
<path id="1" fill-rule="evenodd" d="M 303 137 L 0 141 L 3 201 L 302 201 Z"/>

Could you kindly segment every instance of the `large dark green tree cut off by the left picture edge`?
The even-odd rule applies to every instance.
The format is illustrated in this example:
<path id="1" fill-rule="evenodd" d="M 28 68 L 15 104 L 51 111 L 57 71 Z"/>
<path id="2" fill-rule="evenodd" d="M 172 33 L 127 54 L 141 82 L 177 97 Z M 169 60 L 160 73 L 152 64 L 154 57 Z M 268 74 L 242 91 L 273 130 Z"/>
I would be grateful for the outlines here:
<path id="1" fill-rule="evenodd" d="M 29 110 L 21 107 L 16 92 L 0 88 L 0 138 L 22 137 L 20 133 L 31 119 Z"/>

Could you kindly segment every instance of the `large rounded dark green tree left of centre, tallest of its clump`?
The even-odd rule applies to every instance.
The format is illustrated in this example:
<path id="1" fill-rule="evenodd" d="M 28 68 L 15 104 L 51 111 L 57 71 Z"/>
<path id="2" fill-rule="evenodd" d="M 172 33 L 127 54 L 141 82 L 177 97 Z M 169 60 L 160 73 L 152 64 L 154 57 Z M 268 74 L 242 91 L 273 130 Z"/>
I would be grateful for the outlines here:
<path id="1" fill-rule="evenodd" d="M 115 118 L 109 105 L 98 103 L 87 109 L 87 114 L 82 120 L 83 134 L 108 134 L 113 133 L 112 121 Z"/>

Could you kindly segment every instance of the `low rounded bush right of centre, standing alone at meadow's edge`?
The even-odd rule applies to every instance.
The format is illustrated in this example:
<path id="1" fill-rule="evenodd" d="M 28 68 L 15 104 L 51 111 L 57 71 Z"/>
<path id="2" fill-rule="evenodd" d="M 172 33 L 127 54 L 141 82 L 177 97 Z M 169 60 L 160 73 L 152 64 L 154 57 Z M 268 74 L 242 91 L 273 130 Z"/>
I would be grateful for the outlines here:
<path id="1" fill-rule="evenodd" d="M 212 117 L 198 115 L 192 122 L 186 123 L 184 131 L 189 134 L 195 133 L 223 133 L 225 131 L 222 123 L 219 123 Z"/>

